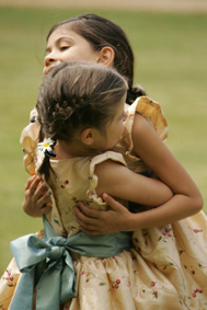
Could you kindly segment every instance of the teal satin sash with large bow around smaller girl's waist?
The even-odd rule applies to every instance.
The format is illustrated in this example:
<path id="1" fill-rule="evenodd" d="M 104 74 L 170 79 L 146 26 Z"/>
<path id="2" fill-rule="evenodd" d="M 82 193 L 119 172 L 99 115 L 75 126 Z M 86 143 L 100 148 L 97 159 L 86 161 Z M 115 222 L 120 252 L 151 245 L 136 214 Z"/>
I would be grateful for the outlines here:
<path id="1" fill-rule="evenodd" d="M 56 236 L 44 217 L 44 240 L 27 234 L 11 242 L 22 273 L 10 310 L 32 310 L 34 287 L 36 310 L 59 310 L 76 296 L 76 275 L 69 251 L 85 256 L 111 257 L 131 248 L 131 233 L 89 236 L 79 232 L 68 239 Z"/>

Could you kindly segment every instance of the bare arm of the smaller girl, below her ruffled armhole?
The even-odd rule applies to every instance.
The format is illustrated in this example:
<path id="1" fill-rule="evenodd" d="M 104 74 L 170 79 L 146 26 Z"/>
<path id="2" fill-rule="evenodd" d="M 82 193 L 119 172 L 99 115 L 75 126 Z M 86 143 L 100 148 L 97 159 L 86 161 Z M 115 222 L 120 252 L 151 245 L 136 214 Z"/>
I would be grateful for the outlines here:
<path id="1" fill-rule="evenodd" d="M 137 174 L 112 160 L 96 165 L 96 194 L 107 193 L 124 200 L 157 207 L 172 197 L 171 190 L 159 180 Z"/>

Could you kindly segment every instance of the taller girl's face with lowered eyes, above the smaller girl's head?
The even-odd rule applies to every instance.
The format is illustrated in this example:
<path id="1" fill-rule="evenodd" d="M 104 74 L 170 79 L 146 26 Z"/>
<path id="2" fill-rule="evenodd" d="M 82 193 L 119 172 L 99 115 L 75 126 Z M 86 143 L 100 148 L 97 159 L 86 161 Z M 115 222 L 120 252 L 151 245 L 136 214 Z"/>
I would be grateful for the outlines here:
<path id="1" fill-rule="evenodd" d="M 61 61 L 97 62 L 99 50 L 94 50 L 85 38 L 62 25 L 48 38 L 44 76 Z"/>

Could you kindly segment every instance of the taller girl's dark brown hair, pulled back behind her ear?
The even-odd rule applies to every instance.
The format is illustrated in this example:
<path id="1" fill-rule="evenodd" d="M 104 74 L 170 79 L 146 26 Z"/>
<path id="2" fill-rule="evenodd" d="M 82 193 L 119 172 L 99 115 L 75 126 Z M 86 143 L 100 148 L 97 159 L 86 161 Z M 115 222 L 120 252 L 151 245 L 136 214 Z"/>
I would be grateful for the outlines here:
<path id="1" fill-rule="evenodd" d="M 117 24 L 95 14 L 82 14 L 54 25 L 47 39 L 60 26 L 66 26 L 81 35 L 95 50 L 101 50 L 105 46 L 113 48 L 115 53 L 114 68 L 128 81 L 126 100 L 128 104 L 131 104 L 137 96 L 146 95 L 142 88 L 133 85 L 134 53 L 126 34 Z"/>

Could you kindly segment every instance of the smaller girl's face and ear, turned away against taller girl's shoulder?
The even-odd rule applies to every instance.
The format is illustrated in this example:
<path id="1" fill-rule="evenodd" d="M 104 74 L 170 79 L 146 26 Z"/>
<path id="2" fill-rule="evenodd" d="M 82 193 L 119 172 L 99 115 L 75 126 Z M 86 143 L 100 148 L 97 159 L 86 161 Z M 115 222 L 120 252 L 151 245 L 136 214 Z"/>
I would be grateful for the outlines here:
<path id="1" fill-rule="evenodd" d="M 116 114 L 112 122 L 106 125 L 105 133 L 96 130 L 94 148 L 100 151 L 112 149 L 117 142 L 120 141 L 124 135 L 124 120 L 126 119 L 125 112 L 126 95 L 124 95 L 117 105 Z"/>

